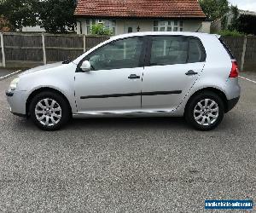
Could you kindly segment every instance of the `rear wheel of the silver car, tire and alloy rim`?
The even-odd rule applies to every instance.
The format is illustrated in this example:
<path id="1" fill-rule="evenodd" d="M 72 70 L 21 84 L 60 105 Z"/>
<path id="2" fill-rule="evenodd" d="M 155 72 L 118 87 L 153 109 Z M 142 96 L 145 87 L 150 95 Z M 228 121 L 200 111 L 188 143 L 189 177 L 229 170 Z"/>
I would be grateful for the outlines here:
<path id="1" fill-rule="evenodd" d="M 211 91 L 201 92 L 189 100 L 185 118 L 196 130 L 213 130 L 224 118 L 224 102 Z"/>

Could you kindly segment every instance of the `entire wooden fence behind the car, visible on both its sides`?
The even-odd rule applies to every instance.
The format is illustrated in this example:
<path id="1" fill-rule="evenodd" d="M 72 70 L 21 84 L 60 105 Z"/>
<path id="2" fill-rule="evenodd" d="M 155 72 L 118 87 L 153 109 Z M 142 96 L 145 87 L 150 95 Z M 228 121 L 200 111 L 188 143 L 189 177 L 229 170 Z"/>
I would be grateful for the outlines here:
<path id="1" fill-rule="evenodd" d="M 75 34 L 0 33 L 0 66 L 30 67 L 72 60 L 108 37 Z M 223 37 L 242 71 L 256 72 L 256 37 Z"/>

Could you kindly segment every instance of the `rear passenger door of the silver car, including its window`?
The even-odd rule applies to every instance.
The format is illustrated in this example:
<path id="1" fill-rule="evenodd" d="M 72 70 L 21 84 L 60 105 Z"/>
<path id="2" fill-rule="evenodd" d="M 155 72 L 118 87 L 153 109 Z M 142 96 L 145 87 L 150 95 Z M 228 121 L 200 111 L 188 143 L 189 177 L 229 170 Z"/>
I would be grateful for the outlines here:
<path id="1" fill-rule="evenodd" d="M 197 37 L 149 37 L 143 72 L 142 107 L 172 111 L 199 78 L 206 60 Z"/>

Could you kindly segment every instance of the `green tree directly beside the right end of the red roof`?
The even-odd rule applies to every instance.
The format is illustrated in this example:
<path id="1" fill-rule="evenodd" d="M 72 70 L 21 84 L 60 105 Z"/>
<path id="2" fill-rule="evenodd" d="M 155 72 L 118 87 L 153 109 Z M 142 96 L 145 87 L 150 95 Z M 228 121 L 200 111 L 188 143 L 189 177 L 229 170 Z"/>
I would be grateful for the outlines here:
<path id="1" fill-rule="evenodd" d="M 230 10 L 228 0 L 199 0 L 199 3 L 210 20 L 222 18 Z"/>

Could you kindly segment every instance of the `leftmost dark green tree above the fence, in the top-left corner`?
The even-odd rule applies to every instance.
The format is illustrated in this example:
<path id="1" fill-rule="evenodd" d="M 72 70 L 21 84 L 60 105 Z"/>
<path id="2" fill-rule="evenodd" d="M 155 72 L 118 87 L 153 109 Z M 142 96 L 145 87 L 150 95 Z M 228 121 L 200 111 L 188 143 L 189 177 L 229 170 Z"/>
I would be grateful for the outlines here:
<path id="1" fill-rule="evenodd" d="M 9 21 L 11 30 L 21 32 L 23 26 L 36 26 L 37 14 L 34 10 L 36 0 L 2 0 L 0 14 Z"/>

